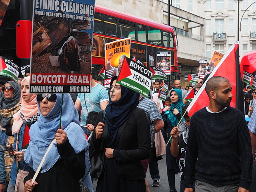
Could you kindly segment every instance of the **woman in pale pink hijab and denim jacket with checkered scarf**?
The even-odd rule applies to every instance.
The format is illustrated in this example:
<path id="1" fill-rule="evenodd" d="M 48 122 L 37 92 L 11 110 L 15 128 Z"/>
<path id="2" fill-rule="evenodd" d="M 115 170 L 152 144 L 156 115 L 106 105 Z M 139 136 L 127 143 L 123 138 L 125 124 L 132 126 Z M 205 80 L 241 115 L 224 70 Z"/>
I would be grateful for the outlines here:
<path id="1" fill-rule="evenodd" d="M 17 191 L 22 191 L 24 189 L 24 175 L 30 170 L 28 164 L 24 162 L 24 153 L 28 147 L 29 128 L 38 120 L 40 112 L 36 103 L 36 94 L 29 93 L 29 80 L 30 76 L 25 77 L 21 82 L 21 109 L 13 116 L 12 134 L 14 134 L 15 137 L 13 147 L 17 152 L 10 153 L 10 155 L 15 156 L 15 160 L 12 165 L 11 179 L 7 192 L 14 192 L 14 187 Z M 18 174 L 17 178 L 18 170 L 22 175 Z M 22 180 L 20 178 L 22 178 Z"/>

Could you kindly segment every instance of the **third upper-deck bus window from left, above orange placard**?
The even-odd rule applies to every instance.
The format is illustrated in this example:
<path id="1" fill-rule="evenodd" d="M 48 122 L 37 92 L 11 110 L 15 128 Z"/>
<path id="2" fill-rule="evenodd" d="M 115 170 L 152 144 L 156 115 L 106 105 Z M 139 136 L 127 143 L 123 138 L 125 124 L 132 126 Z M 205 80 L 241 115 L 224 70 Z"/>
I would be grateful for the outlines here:
<path id="1" fill-rule="evenodd" d="M 121 37 L 121 38 L 130 37 L 131 40 L 136 40 L 136 38 L 135 38 L 135 24 L 120 19 L 119 20 L 119 37 Z"/>

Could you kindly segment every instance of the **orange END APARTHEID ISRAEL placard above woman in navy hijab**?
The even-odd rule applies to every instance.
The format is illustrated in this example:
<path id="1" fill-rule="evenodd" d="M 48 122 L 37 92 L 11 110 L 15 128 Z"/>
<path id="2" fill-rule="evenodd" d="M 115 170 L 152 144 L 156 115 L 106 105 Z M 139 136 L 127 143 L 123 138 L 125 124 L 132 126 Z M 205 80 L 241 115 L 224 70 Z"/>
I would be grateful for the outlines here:
<path id="1" fill-rule="evenodd" d="M 104 88 L 109 88 L 113 76 L 119 76 L 125 57 L 130 58 L 130 38 L 105 44 Z"/>

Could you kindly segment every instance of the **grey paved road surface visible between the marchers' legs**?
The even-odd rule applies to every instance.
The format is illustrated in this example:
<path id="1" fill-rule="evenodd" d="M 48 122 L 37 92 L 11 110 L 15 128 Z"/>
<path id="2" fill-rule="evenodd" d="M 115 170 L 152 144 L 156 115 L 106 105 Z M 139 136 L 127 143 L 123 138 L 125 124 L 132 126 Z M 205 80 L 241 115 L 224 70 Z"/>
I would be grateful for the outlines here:
<path id="1" fill-rule="evenodd" d="M 168 185 L 168 178 L 167 178 L 167 171 L 166 171 L 166 160 L 165 156 L 162 156 L 163 159 L 158 161 L 159 173 L 160 173 L 160 186 L 159 187 L 152 187 L 153 180 L 150 177 L 149 169 L 147 170 L 147 182 L 149 183 L 149 190 L 150 192 L 169 192 L 169 185 Z M 93 182 L 93 189 L 96 189 L 97 182 Z M 175 176 L 175 186 L 176 190 L 180 192 L 180 174 Z"/>

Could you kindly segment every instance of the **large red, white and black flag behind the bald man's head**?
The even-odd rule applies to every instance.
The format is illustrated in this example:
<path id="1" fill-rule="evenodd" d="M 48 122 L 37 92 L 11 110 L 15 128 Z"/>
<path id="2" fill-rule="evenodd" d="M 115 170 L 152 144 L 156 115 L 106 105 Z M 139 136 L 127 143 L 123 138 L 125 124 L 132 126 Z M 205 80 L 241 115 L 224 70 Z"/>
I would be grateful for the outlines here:
<path id="1" fill-rule="evenodd" d="M 242 92 L 242 78 L 239 67 L 239 42 L 235 42 L 228 52 L 225 54 L 220 63 L 212 71 L 209 78 L 202 85 L 201 89 L 194 97 L 189 107 L 187 108 L 188 115 L 192 116 L 196 111 L 203 107 L 209 106 L 209 97 L 206 94 L 205 86 L 207 81 L 213 76 L 225 77 L 230 81 L 232 86 L 232 101 L 231 107 L 239 109 L 241 112 L 244 111 L 243 103 L 243 92 Z"/>

